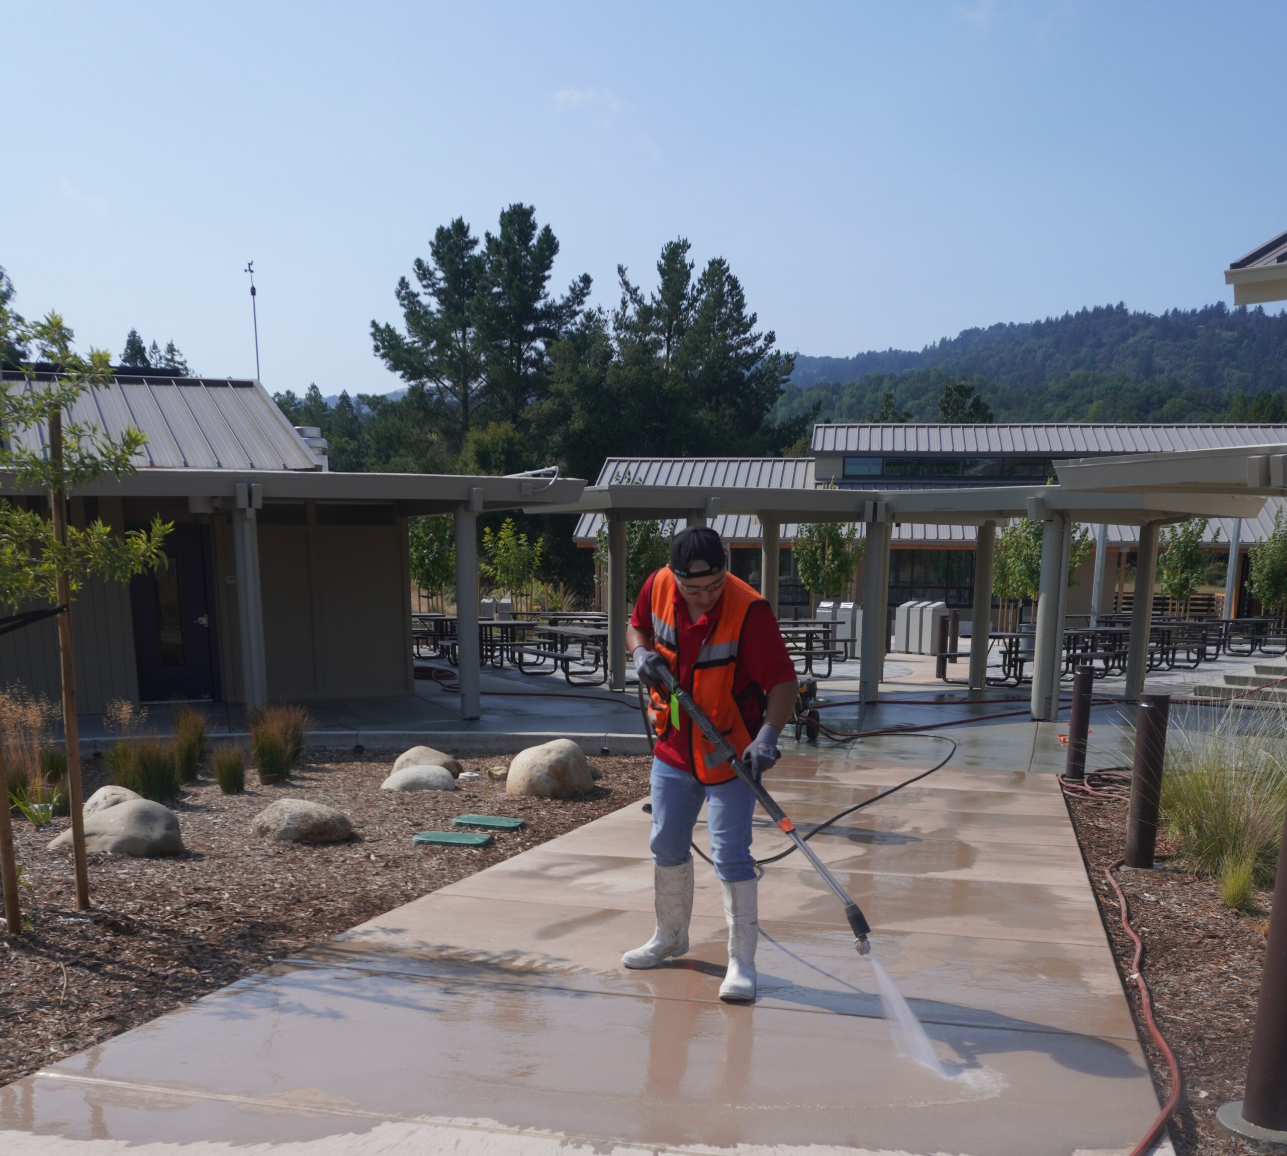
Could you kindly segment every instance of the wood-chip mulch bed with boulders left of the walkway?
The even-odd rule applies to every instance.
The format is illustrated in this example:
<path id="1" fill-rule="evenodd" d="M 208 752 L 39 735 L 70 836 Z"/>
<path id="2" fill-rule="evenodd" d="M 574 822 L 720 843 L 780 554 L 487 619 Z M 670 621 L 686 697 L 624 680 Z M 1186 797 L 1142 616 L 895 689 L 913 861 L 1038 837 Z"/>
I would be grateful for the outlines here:
<path id="1" fill-rule="evenodd" d="M 595 757 L 604 775 L 595 790 L 561 801 L 507 796 L 486 778 L 508 762 L 499 756 L 462 758 L 483 779 L 448 793 L 380 790 L 393 753 L 305 758 L 277 787 L 250 781 L 251 771 L 245 794 L 220 794 L 208 775 L 185 787 L 171 806 L 187 855 L 90 855 L 91 911 L 75 909 L 71 853 L 45 850 L 69 820 L 37 832 L 15 819 L 31 928 L 0 929 L 0 1085 L 642 798 L 651 763 Z M 86 761 L 86 796 L 103 780 Z M 255 838 L 251 819 L 278 798 L 338 807 L 356 837 L 323 847 Z M 417 832 L 467 812 L 526 824 L 485 848 L 412 846 Z"/>

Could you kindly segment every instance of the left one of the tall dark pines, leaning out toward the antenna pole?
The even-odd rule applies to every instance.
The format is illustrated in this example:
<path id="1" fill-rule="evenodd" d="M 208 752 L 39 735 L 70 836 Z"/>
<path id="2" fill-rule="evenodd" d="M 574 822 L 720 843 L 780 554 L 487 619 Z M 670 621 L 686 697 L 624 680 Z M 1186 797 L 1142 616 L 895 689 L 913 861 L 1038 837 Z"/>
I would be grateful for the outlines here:
<path id="1" fill-rule="evenodd" d="M 444 402 L 444 420 L 457 445 L 470 433 L 485 382 L 477 246 L 463 218 L 439 225 L 429 261 L 416 257 L 412 265 L 420 288 L 412 288 L 405 277 L 398 281 L 405 336 L 390 324 L 371 322 L 376 357 L 403 381 L 425 386 Z"/>

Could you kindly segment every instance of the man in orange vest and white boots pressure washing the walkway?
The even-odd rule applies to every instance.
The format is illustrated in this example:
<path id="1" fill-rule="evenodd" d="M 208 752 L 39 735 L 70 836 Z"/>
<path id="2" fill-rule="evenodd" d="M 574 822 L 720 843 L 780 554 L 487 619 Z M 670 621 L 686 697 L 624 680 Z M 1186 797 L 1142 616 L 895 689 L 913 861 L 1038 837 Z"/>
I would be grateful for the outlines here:
<path id="1" fill-rule="evenodd" d="M 795 667 L 773 608 L 726 570 L 723 542 L 707 527 L 674 536 L 671 565 L 640 591 L 627 645 L 649 687 L 653 752 L 653 862 L 656 931 L 627 951 L 631 968 L 656 967 L 689 950 L 692 915 L 692 829 L 707 803 L 710 857 L 728 920 L 728 972 L 719 998 L 755 998 L 755 864 L 750 820 L 755 799 L 732 767 L 664 690 L 664 671 L 680 681 L 728 735 L 758 779 L 780 757 L 777 736 L 795 704 Z"/>

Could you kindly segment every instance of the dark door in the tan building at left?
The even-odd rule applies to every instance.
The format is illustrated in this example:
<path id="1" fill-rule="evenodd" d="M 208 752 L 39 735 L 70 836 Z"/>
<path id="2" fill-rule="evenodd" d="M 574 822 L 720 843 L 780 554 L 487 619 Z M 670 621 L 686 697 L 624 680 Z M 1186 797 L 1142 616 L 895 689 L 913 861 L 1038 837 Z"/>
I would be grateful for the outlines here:
<path id="1" fill-rule="evenodd" d="M 216 698 L 205 527 L 175 527 L 165 539 L 170 564 L 130 583 L 139 698 L 148 703 Z"/>

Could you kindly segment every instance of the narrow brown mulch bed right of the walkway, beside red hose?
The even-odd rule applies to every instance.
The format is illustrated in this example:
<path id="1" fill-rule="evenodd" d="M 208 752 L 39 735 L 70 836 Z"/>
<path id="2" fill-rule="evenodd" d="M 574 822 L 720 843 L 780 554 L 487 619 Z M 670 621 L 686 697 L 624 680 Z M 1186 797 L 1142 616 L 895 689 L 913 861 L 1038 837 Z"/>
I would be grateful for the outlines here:
<path id="1" fill-rule="evenodd" d="M 1126 802 L 1069 798 L 1068 807 L 1161 1103 L 1170 1094 L 1170 1071 L 1148 1034 L 1135 984 L 1126 978 L 1134 945 L 1104 879 L 1104 869 L 1121 859 L 1125 847 Z M 1180 1102 L 1169 1124 L 1171 1142 L 1179 1156 L 1241 1156 L 1247 1148 L 1216 1132 L 1215 1114 L 1242 1099 L 1272 893 L 1259 892 L 1251 910 L 1238 914 L 1220 900 L 1219 881 L 1185 874 L 1165 857 L 1160 866 L 1115 874 L 1144 941 L 1153 1018 L 1183 1074 Z"/>

